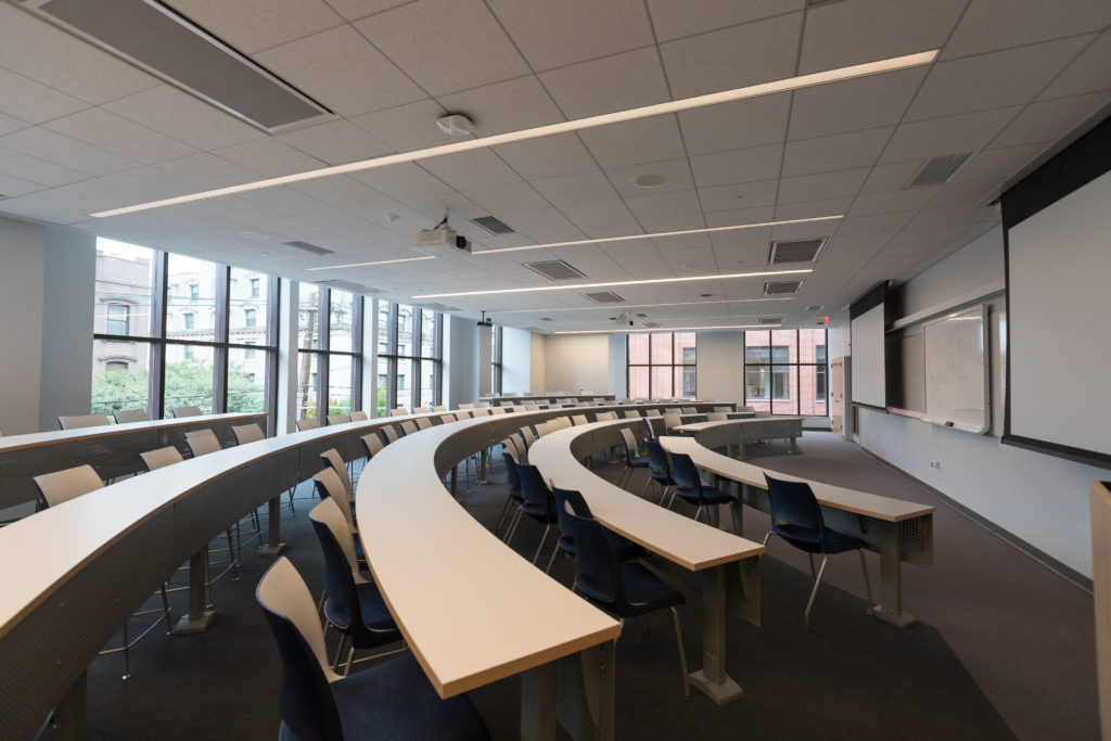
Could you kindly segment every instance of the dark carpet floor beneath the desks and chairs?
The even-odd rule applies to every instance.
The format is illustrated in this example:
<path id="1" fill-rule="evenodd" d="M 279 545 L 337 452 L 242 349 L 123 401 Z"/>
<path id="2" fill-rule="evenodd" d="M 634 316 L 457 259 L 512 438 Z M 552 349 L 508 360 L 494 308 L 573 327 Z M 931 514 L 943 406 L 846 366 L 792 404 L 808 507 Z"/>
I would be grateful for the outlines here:
<path id="1" fill-rule="evenodd" d="M 935 563 L 904 567 L 904 609 L 919 624 L 901 630 L 864 614 L 859 562 L 835 557 L 809 630 L 805 557 L 773 542 L 762 564 L 762 625 L 731 618 L 729 673 L 744 688 L 717 707 L 697 691 L 684 700 L 670 620 L 642 618 L 617 649 L 619 739 L 1097 739 L 1092 599 L 1034 560 L 934 501 L 913 481 L 838 440 L 807 432 L 801 455 L 768 445 L 752 459 L 770 469 L 864 491 L 935 503 Z M 615 477 L 620 467 L 599 462 Z M 501 467 L 493 483 L 473 485 L 461 503 L 491 523 L 504 499 Z M 632 485 L 639 490 L 639 483 Z M 301 495 L 309 490 L 302 485 Z M 307 512 L 283 513 L 282 540 L 310 588 L 322 559 Z M 682 504 L 677 505 L 680 510 Z M 682 510 L 681 510 L 682 511 Z M 767 515 L 745 514 L 759 540 Z M 531 558 L 540 525 L 522 522 L 512 545 Z M 873 589 L 879 561 L 869 554 Z M 217 585 L 219 618 L 207 633 L 152 634 L 132 652 L 121 682 L 118 655 L 89 672 L 90 739 L 274 739 L 280 665 L 254 602 L 269 559 L 246 555 L 241 579 Z M 570 583 L 573 564 L 557 559 L 554 578 Z M 697 595 L 680 609 L 692 669 L 701 661 Z M 481 595 L 476 595 L 481 599 Z M 172 595 L 174 609 L 184 594 Z M 458 608 L 452 608 L 458 609 Z M 444 610 L 451 619 L 451 609 Z M 333 639 L 334 640 L 334 639 Z M 518 738 L 520 683 L 508 679 L 471 693 L 496 739 Z M 47 729 L 43 738 L 50 738 Z"/>

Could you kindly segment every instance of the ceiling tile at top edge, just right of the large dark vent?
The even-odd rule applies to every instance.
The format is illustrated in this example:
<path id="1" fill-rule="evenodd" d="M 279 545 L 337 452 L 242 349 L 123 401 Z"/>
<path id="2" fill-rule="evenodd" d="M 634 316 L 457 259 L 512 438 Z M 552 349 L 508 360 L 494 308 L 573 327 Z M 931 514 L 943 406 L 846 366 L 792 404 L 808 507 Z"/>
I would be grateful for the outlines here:
<path id="1" fill-rule="evenodd" d="M 320 0 L 167 0 L 167 4 L 246 54 L 343 22 Z"/>

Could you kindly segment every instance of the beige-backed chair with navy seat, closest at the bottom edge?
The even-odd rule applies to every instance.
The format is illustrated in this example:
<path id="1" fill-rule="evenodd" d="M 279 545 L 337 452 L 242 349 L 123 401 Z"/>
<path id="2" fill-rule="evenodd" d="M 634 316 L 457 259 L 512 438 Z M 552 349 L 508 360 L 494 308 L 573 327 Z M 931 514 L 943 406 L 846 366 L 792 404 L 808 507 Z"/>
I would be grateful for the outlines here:
<path id="1" fill-rule="evenodd" d="M 281 654 L 283 741 L 490 738 L 470 700 L 440 700 L 411 654 L 347 678 L 333 672 L 309 588 L 287 558 L 263 574 L 254 595 Z"/>

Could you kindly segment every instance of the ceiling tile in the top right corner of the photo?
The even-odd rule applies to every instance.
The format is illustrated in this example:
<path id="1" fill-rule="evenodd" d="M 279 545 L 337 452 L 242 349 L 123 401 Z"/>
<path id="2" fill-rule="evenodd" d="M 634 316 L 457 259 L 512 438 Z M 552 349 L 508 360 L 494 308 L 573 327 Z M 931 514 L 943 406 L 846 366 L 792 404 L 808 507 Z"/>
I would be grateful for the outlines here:
<path id="1" fill-rule="evenodd" d="M 1091 0 L 973 0 L 943 59 L 1019 47 L 1111 24 L 1111 4 Z"/>

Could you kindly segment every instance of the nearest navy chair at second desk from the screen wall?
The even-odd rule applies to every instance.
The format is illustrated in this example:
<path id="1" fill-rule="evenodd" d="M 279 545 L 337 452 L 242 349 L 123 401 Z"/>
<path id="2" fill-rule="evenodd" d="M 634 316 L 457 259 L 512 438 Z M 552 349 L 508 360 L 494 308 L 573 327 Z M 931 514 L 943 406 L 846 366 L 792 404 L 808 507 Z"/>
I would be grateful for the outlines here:
<path id="1" fill-rule="evenodd" d="M 679 647 L 679 665 L 683 674 L 683 694 L 690 697 L 687 675 L 687 652 L 679 628 L 675 605 L 683 604 L 681 592 L 661 581 L 637 561 L 618 561 L 605 534 L 608 531 L 592 518 L 564 513 L 564 524 L 574 539 L 574 589 L 598 607 L 615 614 L 624 625 L 625 618 L 670 609 Z"/>

